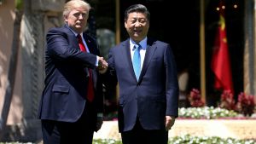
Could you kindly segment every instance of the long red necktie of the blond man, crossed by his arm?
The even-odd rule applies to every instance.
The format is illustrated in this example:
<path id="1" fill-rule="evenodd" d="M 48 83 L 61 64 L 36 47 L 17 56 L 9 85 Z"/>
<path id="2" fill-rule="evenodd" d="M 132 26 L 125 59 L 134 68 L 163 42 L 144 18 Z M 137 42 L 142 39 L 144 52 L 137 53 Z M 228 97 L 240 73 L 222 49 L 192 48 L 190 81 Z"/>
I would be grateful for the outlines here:
<path id="1" fill-rule="evenodd" d="M 79 38 L 80 49 L 86 53 L 86 49 L 80 34 L 78 34 L 78 38 Z M 88 68 L 88 70 L 89 70 L 89 82 L 88 82 L 88 89 L 87 89 L 87 99 L 88 101 L 93 101 L 94 90 L 93 90 L 92 72 L 90 68 Z"/>

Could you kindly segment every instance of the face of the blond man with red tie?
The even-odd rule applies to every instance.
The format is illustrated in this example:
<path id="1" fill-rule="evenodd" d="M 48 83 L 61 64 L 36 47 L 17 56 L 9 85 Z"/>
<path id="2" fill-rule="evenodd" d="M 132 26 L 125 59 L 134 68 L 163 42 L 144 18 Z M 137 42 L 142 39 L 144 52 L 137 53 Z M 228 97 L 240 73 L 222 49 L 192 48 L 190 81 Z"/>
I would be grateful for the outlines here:
<path id="1" fill-rule="evenodd" d="M 67 26 L 73 29 L 74 32 L 84 32 L 89 17 L 89 9 L 77 7 L 64 16 Z"/>

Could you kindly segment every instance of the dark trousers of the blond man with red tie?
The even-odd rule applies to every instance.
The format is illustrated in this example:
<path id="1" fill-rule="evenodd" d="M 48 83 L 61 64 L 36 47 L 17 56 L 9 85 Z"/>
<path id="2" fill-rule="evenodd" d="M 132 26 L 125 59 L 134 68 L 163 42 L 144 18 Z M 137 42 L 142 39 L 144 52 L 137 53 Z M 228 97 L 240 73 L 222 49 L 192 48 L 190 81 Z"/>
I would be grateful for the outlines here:
<path id="1" fill-rule="evenodd" d="M 87 109 L 86 109 L 87 108 Z M 94 129 L 89 107 L 75 123 L 42 120 L 44 144 L 91 144 Z"/>

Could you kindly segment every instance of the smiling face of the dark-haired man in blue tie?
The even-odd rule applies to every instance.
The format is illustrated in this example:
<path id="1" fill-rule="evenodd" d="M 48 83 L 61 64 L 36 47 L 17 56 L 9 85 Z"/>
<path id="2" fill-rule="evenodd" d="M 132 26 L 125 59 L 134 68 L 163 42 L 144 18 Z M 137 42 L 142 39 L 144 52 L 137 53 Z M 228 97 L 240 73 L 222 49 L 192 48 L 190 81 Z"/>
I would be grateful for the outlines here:
<path id="1" fill-rule="evenodd" d="M 147 14 L 133 12 L 128 14 L 125 21 L 125 28 L 129 36 L 137 43 L 143 40 L 148 34 L 149 21 Z"/>

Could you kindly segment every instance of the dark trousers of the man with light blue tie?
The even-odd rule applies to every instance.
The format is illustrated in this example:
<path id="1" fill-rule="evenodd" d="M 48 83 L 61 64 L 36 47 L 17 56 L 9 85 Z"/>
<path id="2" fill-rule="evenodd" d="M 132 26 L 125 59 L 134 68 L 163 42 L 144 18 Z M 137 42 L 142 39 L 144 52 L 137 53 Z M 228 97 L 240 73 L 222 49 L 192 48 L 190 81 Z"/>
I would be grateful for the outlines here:
<path id="1" fill-rule="evenodd" d="M 121 133 L 123 144 L 167 144 L 168 131 L 144 130 L 137 120 L 134 128 Z"/>

